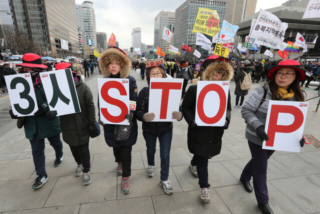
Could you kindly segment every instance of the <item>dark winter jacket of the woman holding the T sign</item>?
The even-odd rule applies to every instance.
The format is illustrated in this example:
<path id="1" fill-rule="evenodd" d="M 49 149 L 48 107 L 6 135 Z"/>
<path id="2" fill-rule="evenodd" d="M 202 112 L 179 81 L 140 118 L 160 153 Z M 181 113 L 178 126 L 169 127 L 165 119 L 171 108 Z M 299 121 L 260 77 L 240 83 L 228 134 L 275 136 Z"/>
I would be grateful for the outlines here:
<path id="1" fill-rule="evenodd" d="M 144 100 L 145 95 L 145 100 Z M 143 106 L 142 106 L 143 105 Z M 171 131 L 173 129 L 172 122 L 145 122 L 143 115 L 149 110 L 149 87 L 143 87 L 138 95 L 138 101 L 136 103 L 135 116 L 137 120 L 142 121 L 142 131 L 149 134 L 159 136 L 165 132 Z M 179 107 L 179 111 L 182 112 Z M 183 118 L 183 115 L 181 119 Z"/>

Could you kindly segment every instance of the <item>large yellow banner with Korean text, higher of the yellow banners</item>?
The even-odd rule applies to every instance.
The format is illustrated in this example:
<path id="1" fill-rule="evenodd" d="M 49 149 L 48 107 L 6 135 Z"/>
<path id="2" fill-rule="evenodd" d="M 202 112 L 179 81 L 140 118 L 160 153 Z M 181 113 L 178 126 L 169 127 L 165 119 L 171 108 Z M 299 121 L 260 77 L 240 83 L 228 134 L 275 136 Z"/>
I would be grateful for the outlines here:
<path id="1" fill-rule="evenodd" d="M 216 10 L 198 8 L 192 32 L 201 32 L 214 36 L 219 31 L 219 15 Z"/>

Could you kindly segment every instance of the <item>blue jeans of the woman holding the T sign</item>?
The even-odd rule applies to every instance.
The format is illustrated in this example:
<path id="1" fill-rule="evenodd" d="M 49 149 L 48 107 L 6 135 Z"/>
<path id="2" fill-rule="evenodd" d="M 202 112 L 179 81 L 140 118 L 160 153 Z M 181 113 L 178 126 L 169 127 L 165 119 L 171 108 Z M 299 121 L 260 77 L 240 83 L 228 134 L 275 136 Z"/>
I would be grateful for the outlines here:
<path id="1" fill-rule="evenodd" d="M 146 157 L 148 160 L 148 165 L 154 166 L 156 137 L 159 138 L 160 159 L 161 159 L 160 179 L 162 181 L 167 180 L 169 176 L 169 167 L 170 167 L 170 148 L 171 148 L 171 140 L 172 140 L 172 131 L 165 132 L 163 134 L 160 134 L 159 136 L 149 134 L 145 131 L 143 131 L 142 134 L 145 139 Z"/>

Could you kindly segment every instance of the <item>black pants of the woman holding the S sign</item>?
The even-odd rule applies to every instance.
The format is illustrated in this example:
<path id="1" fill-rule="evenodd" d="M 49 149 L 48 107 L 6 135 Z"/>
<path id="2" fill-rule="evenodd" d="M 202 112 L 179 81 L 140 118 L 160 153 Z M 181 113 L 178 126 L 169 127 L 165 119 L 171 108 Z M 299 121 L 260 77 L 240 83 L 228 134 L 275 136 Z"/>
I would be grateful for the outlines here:
<path id="1" fill-rule="evenodd" d="M 115 162 L 122 163 L 122 177 L 131 175 L 131 146 L 113 147 Z"/>

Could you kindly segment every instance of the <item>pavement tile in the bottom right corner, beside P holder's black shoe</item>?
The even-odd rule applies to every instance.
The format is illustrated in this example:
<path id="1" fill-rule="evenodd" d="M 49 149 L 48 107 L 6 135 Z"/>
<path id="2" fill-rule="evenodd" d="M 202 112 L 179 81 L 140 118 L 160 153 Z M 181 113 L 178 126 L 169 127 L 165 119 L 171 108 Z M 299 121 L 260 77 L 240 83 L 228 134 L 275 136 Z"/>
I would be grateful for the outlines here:
<path id="1" fill-rule="evenodd" d="M 320 211 L 320 177 L 315 174 L 270 180 L 269 182 L 305 212 Z"/>

